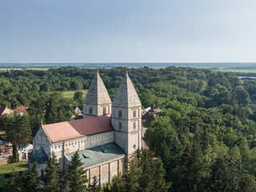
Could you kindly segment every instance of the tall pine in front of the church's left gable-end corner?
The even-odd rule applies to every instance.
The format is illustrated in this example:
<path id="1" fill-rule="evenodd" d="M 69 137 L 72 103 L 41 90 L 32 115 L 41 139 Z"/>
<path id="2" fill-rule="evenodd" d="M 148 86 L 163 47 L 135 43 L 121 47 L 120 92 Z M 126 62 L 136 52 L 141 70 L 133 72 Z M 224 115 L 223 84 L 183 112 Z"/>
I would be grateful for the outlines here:
<path id="1" fill-rule="evenodd" d="M 59 170 L 59 163 L 56 155 L 53 153 L 52 157 L 46 163 L 46 174 L 42 176 L 42 192 L 59 192 L 62 190 L 63 173 Z"/>

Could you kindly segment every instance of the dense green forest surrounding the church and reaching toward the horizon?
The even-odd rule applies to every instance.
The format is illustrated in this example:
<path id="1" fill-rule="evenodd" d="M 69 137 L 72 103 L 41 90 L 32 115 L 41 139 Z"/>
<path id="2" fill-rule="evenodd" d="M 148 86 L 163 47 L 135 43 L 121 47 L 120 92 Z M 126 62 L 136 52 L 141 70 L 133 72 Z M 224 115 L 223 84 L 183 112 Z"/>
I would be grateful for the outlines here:
<path id="1" fill-rule="evenodd" d="M 126 70 L 142 108 L 154 102 L 163 111 L 144 137 L 150 152 L 134 154 L 131 169 L 104 191 L 256 191 L 256 79 L 174 66 L 98 69 L 111 99 Z M 1 72 L 0 106 L 28 107 L 22 117 L 0 118 L 6 139 L 31 142 L 41 123 L 70 120 L 63 105 L 82 110 L 79 90 L 95 74 L 77 67 Z M 62 90 L 77 92 L 64 98 Z"/>

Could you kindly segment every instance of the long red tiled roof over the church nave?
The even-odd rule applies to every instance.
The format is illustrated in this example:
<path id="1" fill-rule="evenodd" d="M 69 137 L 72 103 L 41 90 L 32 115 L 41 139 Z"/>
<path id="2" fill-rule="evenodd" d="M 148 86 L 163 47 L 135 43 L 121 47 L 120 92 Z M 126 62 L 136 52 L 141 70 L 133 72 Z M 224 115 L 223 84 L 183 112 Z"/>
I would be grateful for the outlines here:
<path id="1" fill-rule="evenodd" d="M 109 115 L 102 115 L 70 122 L 48 124 L 44 125 L 44 128 L 52 142 L 60 142 L 71 138 L 114 130 L 110 126 L 110 122 L 111 118 Z"/>

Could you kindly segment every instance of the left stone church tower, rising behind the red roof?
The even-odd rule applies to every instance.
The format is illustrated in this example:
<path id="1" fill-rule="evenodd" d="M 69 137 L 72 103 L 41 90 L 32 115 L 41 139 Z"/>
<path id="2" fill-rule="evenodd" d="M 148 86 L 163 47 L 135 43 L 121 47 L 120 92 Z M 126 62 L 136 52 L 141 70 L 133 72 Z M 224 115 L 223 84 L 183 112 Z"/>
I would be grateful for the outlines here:
<path id="1" fill-rule="evenodd" d="M 111 100 L 98 71 L 83 102 L 83 118 L 111 114 Z"/>

